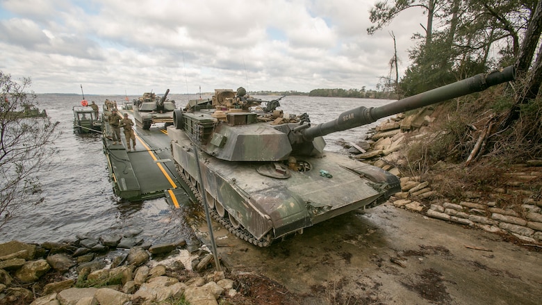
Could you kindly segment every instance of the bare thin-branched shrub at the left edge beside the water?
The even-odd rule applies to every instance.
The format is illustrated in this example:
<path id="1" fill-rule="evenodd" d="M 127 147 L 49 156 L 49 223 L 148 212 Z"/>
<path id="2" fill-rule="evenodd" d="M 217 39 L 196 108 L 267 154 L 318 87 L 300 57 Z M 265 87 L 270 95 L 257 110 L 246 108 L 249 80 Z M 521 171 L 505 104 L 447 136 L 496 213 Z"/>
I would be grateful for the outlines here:
<path id="1" fill-rule="evenodd" d="M 25 204 L 38 204 L 40 183 L 36 174 L 47 169 L 56 149 L 56 123 L 49 117 L 24 117 L 22 110 L 37 105 L 31 80 L 21 83 L 0 71 L 0 228 Z"/>

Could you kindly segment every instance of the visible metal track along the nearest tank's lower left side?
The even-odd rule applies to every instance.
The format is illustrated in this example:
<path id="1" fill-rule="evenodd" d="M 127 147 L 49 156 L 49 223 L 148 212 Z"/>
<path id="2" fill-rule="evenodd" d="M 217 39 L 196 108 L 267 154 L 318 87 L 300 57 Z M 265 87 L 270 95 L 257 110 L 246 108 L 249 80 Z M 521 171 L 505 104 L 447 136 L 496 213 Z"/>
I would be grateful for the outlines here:
<path id="1" fill-rule="evenodd" d="M 199 204 L 204 206 L 204 201 L 203 201 L 202 194 L 200 194 L 199 190 L 197 190 L 197 186 L 195 186 L 195 184 L 192 183 L 186 177 L 185 174 L 183 174 L 183 168 L 176 161 L 175 161 L 175 168 L 177 170 L 177 173 L 179 173 L 179 176 L 181 176 L 181 178 L 183 179 L 183 181 L 185 181 L 185 183 L 188 186 L 190 186 L 190 190 L 195 195 L 195 197 L 196 197 L 197 201 L 199 202 Z M 217 222 L 220 222 L 220 224 L 222 224 L 222 226 L 224 226 L 226 229 L 228 229 L 228 231 L 230 231 L 233 235 L 237 236 L 238 238 L 240 238 L 242 240 L 245 240 L 247 242 L 250 242 L 252 245 L 256 245 L 258 247 L 268 247 L 269 245 L 271 245 L 271 243 L 273 241 L 271 233 L 268 233 L 266 235 L 267 238 L 261 238 L 261 239 L 258 240 L 251 233 L 249 233 L 249 231 L 243 229 L 242 227 L 239 227 L 238 229 L 233 227 L 233 225 L 231 224 L 229 219 L 227 219 L 226 217 L 221 217 L 220 215 L 218 215 L 217 211 L 214 208 L 211 208 L 210 206 L 208 206 L 208 211 L 209 211 L 209 214 Z"/>

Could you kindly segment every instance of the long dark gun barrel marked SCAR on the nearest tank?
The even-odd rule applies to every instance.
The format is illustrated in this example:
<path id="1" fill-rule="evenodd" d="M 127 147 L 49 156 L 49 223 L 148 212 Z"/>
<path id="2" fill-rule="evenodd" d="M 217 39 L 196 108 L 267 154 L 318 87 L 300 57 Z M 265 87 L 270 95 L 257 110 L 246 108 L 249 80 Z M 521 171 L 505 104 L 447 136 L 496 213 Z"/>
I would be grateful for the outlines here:
<path id="1" fill-rule="evenodd" d="M 376 122 L 377 119 L 382 117 L 395 115 L 397 113 L 446 101 L 447 99 L 453 99 L 455 97 L 462 97 L 463 95 L 483 91 L 493 85 L 498 85 L 507 81 L 514 81 L 514 79 L 516 79 L 516 70 L 514 69 L 514 66 L 511 65 L 500 71 L 494 71 L 488 74 L 477 74 L 468 79 L 463 79 L 462 81 L 450 83 L 427 92 L 422 92 L 405 99 L 400 99 L 384 106 L 370 108 L 360 106 L 352 110 L 347 110 L 344 113 L 341 113 L 338 118 L 334 119 L 333 121 L 311 126 L 309 128 L 302 129 L 300 132 L 302 133 L 304 141 L 309 142 L 318 136 L 370 124 L 372 122 Z"/>

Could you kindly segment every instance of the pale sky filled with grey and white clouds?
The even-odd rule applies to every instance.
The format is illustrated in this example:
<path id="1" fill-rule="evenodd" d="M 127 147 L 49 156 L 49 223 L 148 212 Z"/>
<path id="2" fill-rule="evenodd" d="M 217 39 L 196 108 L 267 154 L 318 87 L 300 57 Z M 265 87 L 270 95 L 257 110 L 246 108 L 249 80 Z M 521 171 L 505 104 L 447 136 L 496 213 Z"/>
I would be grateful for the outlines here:
<path id="1" fill-rule="evenodd" d="M 0 71 L 35 93 L 375 89 L 421 10 L 368 35 L 377 0 L 0 0 Z"/>

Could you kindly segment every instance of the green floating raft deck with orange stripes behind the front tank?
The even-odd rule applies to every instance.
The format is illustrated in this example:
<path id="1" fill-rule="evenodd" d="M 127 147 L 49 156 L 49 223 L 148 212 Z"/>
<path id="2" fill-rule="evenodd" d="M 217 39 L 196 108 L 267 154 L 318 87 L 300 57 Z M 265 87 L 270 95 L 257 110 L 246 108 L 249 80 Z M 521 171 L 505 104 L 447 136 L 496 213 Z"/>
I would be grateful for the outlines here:
<path id="1" fill-rule="evenodd" d="M 117 113 L 131 115 L 131 110 L 119 109 Z M 158 127 L 144 130 L 134 126 L 136 149 L 127 151 L 122 131 L 121 142 L 113 144 L 112 131 L 106 121 L 108 115 L 111 112 L 104 110 L 102 143 L 115 195 L 128 201 L 165 197 L 175 208 L 195 201 L 194 195 L 186 191 L 190 188 L 175 170 L 166 130 Z M 133 121 L 133 117 L 131 119 Z"/>

